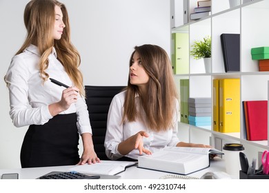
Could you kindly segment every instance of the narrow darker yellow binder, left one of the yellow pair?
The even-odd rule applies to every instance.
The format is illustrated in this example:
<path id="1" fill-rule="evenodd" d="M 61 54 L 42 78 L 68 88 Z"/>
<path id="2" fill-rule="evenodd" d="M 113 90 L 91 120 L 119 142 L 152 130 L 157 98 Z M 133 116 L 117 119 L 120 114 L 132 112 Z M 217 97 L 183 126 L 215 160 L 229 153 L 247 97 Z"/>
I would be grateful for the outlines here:
<path id="1" fill-rule="evenodd" d="M 213 130 L 219 132 L 219 79 L 213 80 Z"/>

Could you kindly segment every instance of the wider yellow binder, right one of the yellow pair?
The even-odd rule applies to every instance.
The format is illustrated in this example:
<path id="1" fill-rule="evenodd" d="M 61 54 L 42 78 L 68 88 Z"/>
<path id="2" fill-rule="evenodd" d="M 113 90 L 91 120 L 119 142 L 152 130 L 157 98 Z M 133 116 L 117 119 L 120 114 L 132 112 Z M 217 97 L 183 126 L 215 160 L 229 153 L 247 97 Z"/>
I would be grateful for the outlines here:
<path id="1" fill-rule="evenodd" d="M 240 132 L 240 79 L 219 80 L 219 132 Z"/>

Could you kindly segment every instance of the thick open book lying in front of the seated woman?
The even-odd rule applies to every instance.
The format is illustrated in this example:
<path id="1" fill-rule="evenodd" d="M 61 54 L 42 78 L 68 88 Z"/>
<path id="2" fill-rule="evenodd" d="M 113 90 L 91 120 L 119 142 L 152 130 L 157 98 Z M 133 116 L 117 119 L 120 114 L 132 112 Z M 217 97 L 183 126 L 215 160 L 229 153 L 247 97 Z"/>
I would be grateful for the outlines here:
<path id="1" fill-rule="evenodd" d="M 139 156 L 138 167 L 186 175 L 209 167 L 210 154 L 223 152 L 212 148 L 166 147 L 152 155 Z"/>

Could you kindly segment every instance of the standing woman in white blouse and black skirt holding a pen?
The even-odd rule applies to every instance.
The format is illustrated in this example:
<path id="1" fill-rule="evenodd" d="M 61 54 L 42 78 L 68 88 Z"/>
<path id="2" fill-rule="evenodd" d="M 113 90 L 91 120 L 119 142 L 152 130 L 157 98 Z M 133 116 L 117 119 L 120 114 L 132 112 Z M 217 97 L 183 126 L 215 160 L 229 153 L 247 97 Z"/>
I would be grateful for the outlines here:
<path id="1" fill-rule="evenodd" d="M 81 59 L 70 41 L 66 6 L 56 0 L 32 0 L 26 5 L 24 23 L 26 41 L 5 76 L 14 125 L 30 125 L 21 147 L 21 167 L 99 162 L 84 99 Z"/>

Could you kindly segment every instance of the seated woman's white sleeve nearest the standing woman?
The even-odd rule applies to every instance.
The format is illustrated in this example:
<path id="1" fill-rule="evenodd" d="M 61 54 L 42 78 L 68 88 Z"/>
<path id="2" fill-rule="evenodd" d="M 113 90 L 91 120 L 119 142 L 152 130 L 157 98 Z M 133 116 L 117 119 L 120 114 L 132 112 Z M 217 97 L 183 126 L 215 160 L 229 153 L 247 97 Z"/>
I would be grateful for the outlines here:
<path id="1" fill-rule="evenodd" d="M 114 96 L 108 111 L 105 148 L 109 159 L 116 160 L 123 157 L 118 151 L 118 145 L 123 141 L 123 103 L 119 96 Z"/>

